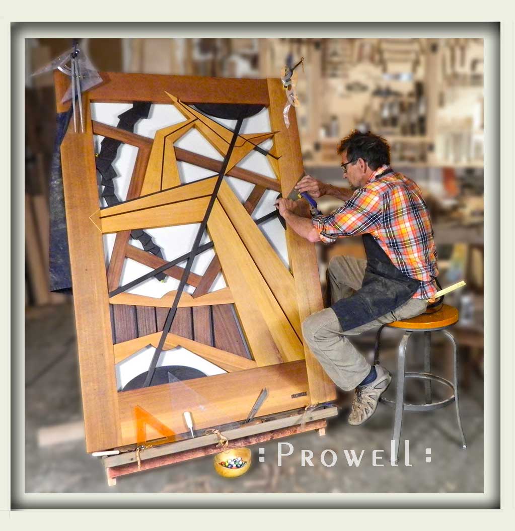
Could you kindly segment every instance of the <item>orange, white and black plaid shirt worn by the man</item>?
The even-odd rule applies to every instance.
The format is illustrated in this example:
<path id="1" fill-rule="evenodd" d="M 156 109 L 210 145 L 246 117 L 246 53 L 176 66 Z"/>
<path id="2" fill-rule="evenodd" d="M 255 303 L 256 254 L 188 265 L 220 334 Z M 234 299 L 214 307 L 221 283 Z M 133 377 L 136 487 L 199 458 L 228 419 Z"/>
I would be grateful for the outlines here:
<path id="1" fill-rule="evenodd" d="M 427 205 L 416 183 L 382 166 L 367 184 L 329 216 L 311 222 L 324 243 L 343 236 L 372 234 L 393 265 L 422 284 L 413 298 L 437 292 L 436 246 Z"/>

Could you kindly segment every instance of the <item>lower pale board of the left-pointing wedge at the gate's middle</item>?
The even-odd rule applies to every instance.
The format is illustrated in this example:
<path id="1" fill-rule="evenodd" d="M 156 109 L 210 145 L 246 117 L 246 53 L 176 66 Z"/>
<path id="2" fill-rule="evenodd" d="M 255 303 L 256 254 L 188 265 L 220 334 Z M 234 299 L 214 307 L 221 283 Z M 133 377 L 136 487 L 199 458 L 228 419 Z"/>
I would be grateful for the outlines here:
<path id="1" fill-rule="evenodd" d="M 102 218 L 104 234 L 128 229 L 149 229 L 200 223 L 206 213 L 209 197 L 182 201 Z"/>

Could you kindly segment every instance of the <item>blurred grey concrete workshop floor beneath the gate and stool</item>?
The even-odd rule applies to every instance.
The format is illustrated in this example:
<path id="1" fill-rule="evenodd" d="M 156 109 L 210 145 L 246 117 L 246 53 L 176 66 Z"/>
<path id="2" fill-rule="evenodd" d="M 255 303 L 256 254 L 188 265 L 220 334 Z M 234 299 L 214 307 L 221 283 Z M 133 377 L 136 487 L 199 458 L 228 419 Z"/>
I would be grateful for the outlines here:
<path id="1" fill-rule="evenodd" d="M 391 390 L 388 391 L 391 393 Z M 347 397 L 348 398 L 348 397 Z M 343 397 L 341 403 L 348 402 Z M 149 470 L 117 480 L 108 487 L 102 463 L 85 452 L 83 440 L 38 448 L 37 431 L 44 426 L 81 419 L 77 353 L 71 305 L 29 309 L 26 315 L 26 441 L 27 493 L 472 493 L 483 492 L 483 381 L 472 375 L 460 396 L 467 450 L 459 443 L 453 406 L 426 414 L 404 415 L 402 438 L 410 441 L 409 462 L 390 465 L 393 412 L 384 405 L 361 427 L 347 424 L 347 411 L 330 421 L 326 436 L 316 432 L 260 446 L 265 462 L 254 461 L 247 474 L 227 481 L 218 476 L 212 457 Z M 294 451 L 277 466 L 278 442 Z M 431 462 L 426 463 L 426 448 Z M 313 451 L 313 467 L 300 466 L 301 450 Z M 344 450 L 364 450 L 359 467 L 349 466 Z M 402 449 L 402 446 L 401 446 Z M 336 453 L 336 464 L 324 466 L 324 450 Z M 372 451 L 382 453 L 384 467 L 372 466 Z M 379 454 L 381 456 L 381 454 Z M 332 461 L 326 452 L 326 463 Z"/>

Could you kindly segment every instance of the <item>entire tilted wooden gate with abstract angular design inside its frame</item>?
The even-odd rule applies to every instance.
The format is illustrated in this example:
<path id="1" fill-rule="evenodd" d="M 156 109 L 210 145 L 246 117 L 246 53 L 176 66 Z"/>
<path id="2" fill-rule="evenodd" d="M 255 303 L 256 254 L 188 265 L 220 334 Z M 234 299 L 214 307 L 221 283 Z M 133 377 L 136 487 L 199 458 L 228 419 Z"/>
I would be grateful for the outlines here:
<path id="1" fill-rule="evenodd" d="M 90 91 L 85 102 L 86 108 L 91 101 L 145 101 L 141 92 L 147 89 L 141 89 L 138 83 L 146 83 L 153 87 L 147 90 L 149 102 L 167 102 L 184 119 L 159 129 L 154 139 L 89 120 L 86 133 L 69 131 L 63 142 L 63 179 L 69 218 L 88 451 L 134 443 L 136 426 L 133 410 L 136 407 L 143 408 L 171 430 L 180 433 L 185 431 L 182 412 L 186 410 L 192 412 L 196 429 L 244 418 L 263 387 L 268 387 L 270 398 L 260 414 L 334 398 L 334 388 L 302 340 L 302 319 L 322 307 L 313 245 L 299 240 L 288 231 L 289 269 L 260 229 L 261 223 L 276 215 L 275 210 L 259 219 L 251 216 L 267 190 L 288 194 L 300 176 L 299 160 L 292 164 L 296 157 L 292 156 L 291 132 L 285 130 L 282 122 L 284 93 L 280 84 L 276 83 L 277 80 L 269 80 L 268 84 L 266 81 L 238 80 L 259 87 L 257 91 L 254 88 L 254 92 L 261 92 L 263 96 L 258 99 L 264 101 L 243 103 L 268 107 L 272 125 L 272 132 L 239 134 L 200 112 L 200 104 L 204 102 L 236 103 L 226 101 L 230 97 L 220 96 L 219 88 L 209 91 L 209 85 L 219 83 L 226 88 L 231 85 L 234 88 L 237 87 L 237 80 L 208 80 L 201 97 L 195 88 L 196 97 L 191 99 L 190 85 L 181 85 L 183 78 L 134 76 L 131 80 L 132 85 L 137 87 L 134 93 L 121 97 L 120 92 L 126 92 L 127 89 L 124 87 L 122 90 L 121 79 L 117 80 L 116 77 L 122 74 L 108 76 L 111 78 L 111 87 L 106 83 L 104 87 Z M 156 89 L 157 82 L 149 83 L 156 79 L 159 83 L 164 82 L 168 90 Z M 57 94 L 62 83 L 60 74 L 57 74 Z M 263 91 L 263 83 L 266 92 Z M 177 87 L 180 90 L 174 91 Z M 249 99 L 248 93 L 241 89 L 235 92 L 245 94 L 243 99 Z M 272 105 L 274 98 L 277 101 Z M 196 102 L 197 108 L 184 101 Z M 241 121 L 239 123 L 241 125 Z M 292 127 L 296 134 L 296 124 L 293 123 Z M 176 143 L 192 129 L 200 133 L 224 160 L 178 147 Z M 92 198 L 88 197 L 88 204 L 83 199 L 78 200 L 77 179 L 72 178 L 77 174 L 73 169 L 74 158 L 74 162 L 82 163 L 85 168 L 81 178 L 86 176 L 92 181 L 95 172 L 91 164 L 94 164 L 94 157 L 88 142 L 93 135 L 138 148 L 126 197 L 121 202 L 110 201 L 108 207 L 100 209 L 98 195 L 95 209 L 92 209 Z M 294 136 L 295 139 L 298 144 L 298 137 Z M 268 151 L 260 147 L 265 141 L 273 142 L 273 147 Z M 258 151 L 266 157 L 275 179 L 238 166 L 252 151 Z M 178 162 L 205 168 L 213 174 L 181 183 Z M 281 179 L 282 175 L 287 177 Z M 224 176 L 254 185 L 246 200 L 238 198 Z M 96 183 L 88 185 L 91 191 L 96 187 Z M 202 223 L 205 224 L 208 238 L 204 237 L 202 243 L 197 238 L 197 254 L 209 249 L 215 252 L 202 275 L 189 269 L 189 253 L 167 262 L 159 246 L 145 232 L 148 229 L 188 224 L 200 224 L 199 230 L 203 230 Z M 91 228 L 94 232 L 91 232 Z M 97 279 L 95 275 L 102 276 L 99 263 L 103 261 L 103 253 L 99 252 L 98 245 L 99 242 L 102 244 L 103 235 L 106 234 L 116 236 L 104 278 Z M 135 235 L 143 249 L 134 245 Z M 80 242 L 79 237 L 82 239 Z M 87 247 L 88 242 L 90 248 Z M 81 256 L 81 249 L 87 256 Z M 95 276 L 93 284 L 96 290 L 93 294 L 87 291 L 88 284 L 82 278 L 84 264 L 80 258 L 82 262 L 87 262 L 90 274 Z M 122 271 L 127 260 L 146 265 L 151 271 L 122 285 Z M 183 262 L 187 265 L 180 265 Z M 299 277 L 303 276 L 301 280 L 296 278 L 296 270 Z M 219 273 L 226 287 L 212 289 Z M 157 275 L 182 279 L 178 290 L 172 290 L 162 297 L 131 293 L 133 286 Z M 182 289 L 183 285 L 190 286 L 189 293 Z M 102 322 L 97 339 L 103 345 L 95 347 L 98 354 L 94 357 L 97 365 L 99 359 L 103 359 L 100 365 L 106 369 L 105 373 L 102 367 L 90 367 L 91 338 L 86 337 L 86 331 L 81 328 L 91 328 L 90 324 L 86 324 L 86 307 L 90 312 L 96 312 Z M 173 317 L 171 322 L 170 314 Z M 81 336 L 84 336 L 82 345 Z M 145 383 L 140 379 L 136 386 L 129 387 L 130 390 L 116 392 L 115 365 L 148 345 L 155 347 L 156 358 L 161 350 L 182 347 L 216 365 L 223 374 L 181 382 L 170 379 L 167 383 L 158 381 L 159 384 L 155 384 L 148 381 L 154 374 L 153 369 L 150 369 Z M 111 374 L 108 374 L 109 371 Z M 102 378 L 104 382 L 100 382 Z M 92 411 L 92 405 L 98 399 L 91 396 L 91 389 L 85 388 L 85 385 L 94 386 L 97 393 L 106 397 L 103 416 Z M 191 403 L 193 395 L 201 397 L 199 407 Z M 113 426 L 109 426 L 109 423 Z M 100 433 L 99 425 L 102 427 Z M 159 434 L 149 429 L 149 436 L 152 438 Z"/>

